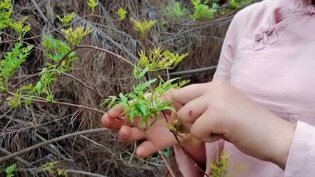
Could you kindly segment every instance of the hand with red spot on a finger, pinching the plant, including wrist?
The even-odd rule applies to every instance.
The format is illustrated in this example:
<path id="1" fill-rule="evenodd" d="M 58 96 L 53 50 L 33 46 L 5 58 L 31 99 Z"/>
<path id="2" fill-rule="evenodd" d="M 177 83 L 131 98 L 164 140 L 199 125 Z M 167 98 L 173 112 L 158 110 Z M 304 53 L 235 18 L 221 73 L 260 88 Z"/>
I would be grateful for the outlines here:
<path id="1" fill-rule="evenodd" d="M 177 117 L 193 123 L 192 136 L 203 142 L 224 139 L 243 153 L 284 169 L 295 125 L 279 118 L 227 83 L 196 84 L 173 91 L 185 105 Z"/>

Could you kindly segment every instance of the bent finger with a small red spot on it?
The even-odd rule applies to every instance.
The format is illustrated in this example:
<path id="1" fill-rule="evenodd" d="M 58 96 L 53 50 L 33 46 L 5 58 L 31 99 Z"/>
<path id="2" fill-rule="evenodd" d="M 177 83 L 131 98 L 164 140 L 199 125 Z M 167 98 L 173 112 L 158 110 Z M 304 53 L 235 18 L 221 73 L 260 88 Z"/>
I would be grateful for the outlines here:
<path id="1" fill-rule="evenodd" d="M 201 96 L 184 105 L 178 111 L 177 118 L 183 123 L 193 123 L 207 110 L 207 108 L 207 99 Z"/>

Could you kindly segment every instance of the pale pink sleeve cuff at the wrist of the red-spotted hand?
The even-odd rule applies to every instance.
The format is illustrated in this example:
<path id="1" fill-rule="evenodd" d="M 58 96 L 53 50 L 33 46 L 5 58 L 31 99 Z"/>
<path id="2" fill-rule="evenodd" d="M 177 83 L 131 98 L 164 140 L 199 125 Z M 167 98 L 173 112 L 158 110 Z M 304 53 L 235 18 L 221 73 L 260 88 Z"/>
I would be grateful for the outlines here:
<path id="1" fill-rule="evenodd" d="M 315 176 L 315 127 L 298 121 L 284 177 Z"/>

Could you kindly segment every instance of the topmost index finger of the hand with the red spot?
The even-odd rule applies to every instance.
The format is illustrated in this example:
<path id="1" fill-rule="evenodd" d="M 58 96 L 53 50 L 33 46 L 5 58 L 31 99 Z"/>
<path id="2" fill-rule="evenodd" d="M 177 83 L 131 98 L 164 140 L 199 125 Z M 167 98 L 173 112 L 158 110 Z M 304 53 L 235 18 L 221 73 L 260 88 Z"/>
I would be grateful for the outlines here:
<path id="1" fill-rule="evenodd" d="M 192 84 L 181 89 L 172 90 L 171 98 L 174 102 L 186 104 L 204 94 L 207 89 L 207 83 Z"/>

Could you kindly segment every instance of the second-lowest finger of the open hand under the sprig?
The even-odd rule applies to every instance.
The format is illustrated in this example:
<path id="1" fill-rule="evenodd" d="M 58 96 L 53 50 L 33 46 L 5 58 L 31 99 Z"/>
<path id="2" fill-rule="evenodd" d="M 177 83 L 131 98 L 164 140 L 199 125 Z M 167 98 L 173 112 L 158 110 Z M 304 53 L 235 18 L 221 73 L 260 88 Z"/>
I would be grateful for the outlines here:
<path id="1" fill-rule="evenodd" d="M 118 132 L 118 139 L 122 142 L 134 142 L 145 138 L 145 133 L 138 128 L 123 125 Z"/>

